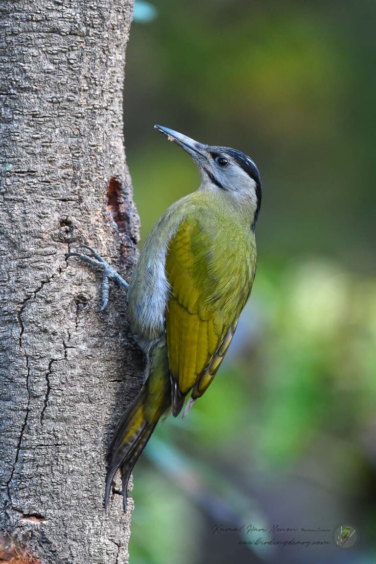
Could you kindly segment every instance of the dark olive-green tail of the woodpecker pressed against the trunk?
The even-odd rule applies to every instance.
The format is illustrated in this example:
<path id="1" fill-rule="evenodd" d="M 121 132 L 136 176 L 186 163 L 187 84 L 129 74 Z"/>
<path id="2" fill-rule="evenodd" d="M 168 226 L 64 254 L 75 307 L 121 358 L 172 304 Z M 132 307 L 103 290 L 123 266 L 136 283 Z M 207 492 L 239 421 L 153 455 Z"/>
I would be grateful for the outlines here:
<path id="1" fill-rule="evenodd" d="M 122 416 L 108 448 L 108 470 L 104 506 L 107 507 L 114 476 L 121 468 L 123 507 L 127 505 L 127 487 L 138 461 L 163 413 L 171 409 L 171 384 L 166 346 L 156 347 L 150 355 L 150 374 L 139 395 Z"/>

